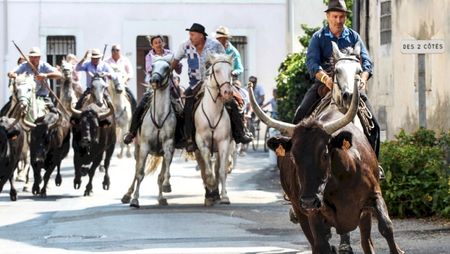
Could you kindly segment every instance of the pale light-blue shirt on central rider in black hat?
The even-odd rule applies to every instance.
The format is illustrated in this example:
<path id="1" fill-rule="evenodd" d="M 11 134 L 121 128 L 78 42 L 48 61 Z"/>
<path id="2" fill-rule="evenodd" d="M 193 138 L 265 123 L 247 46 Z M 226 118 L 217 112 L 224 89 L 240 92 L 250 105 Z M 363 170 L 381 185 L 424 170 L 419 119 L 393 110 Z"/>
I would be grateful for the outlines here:
<path id="1" fill-rule="evenodd" d="M 179 61 L 185 57 L 187 58 L 190 87 L 194 87 L 200 81 L 205 80 L 206 70 L 209 67 L 206 66 L 207 56 L 214 53 L 225 54 L 225 49 L 222 44 L 215 39 L 206 38 L 205 46 L 201 54 L 197 52 L 197 49 L 192 45 L 190 40 L 181 44 L 175 54 L 175 59 Z"/>

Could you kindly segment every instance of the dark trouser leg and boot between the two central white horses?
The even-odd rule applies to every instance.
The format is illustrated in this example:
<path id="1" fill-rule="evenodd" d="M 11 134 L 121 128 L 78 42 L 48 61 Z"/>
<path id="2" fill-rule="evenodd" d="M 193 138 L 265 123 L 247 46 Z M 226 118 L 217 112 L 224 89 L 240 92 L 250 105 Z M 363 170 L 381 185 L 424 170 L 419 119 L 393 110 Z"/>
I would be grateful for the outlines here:
<path id="1" fill-rule="evenodd" d="M 195 126 L 193 112 L 195 97 L 193 95 L 193 91 L 190 88 L 186 89 L 185 94 L 186 100 L 184 104 L 184 139 L 186 141 L 186 151 L 194 152 L 196 149 L 194 141 Z"/>

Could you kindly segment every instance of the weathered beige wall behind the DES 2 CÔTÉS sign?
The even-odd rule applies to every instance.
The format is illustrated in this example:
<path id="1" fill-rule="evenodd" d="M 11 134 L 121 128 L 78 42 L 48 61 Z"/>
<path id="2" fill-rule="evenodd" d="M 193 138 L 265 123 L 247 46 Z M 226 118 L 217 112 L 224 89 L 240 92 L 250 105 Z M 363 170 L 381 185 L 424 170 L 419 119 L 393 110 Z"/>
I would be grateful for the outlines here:
<path id="1" fill-rule="evenodd" d="M 369 97 L 378 110 L 386 107 L 387 137 L 400 129 L 419 127 L 418 57 L 402 54 L 402 40 L 439 39 L 446 45 L 443 54 L 425 56 L 427 127 L 436 131 L 450 129 L 450 2 L 441 0 L 392 1 L 392 43 L 380 45 L 380 2 L 370 3 L 370 53 L 374 77 Z"/>

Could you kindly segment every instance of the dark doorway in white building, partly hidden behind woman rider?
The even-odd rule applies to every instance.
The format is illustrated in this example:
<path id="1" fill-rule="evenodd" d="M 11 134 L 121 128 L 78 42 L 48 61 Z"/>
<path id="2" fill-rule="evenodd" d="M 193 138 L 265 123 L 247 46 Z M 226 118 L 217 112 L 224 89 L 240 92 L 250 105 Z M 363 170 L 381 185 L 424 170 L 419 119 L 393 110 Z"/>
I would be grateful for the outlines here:
<path id="1" fill-rule="evenodd" d="M 151 49 L 150 38 L 154 35 L 139 35 L 136 38 L 136 97 L 141 100 L 142 95 L 145 92 L 145 87 L 140 84 L 145 81 L 145 56 Z M 162 36 L 165 42 L 166 49 L 169 49 L 169 37 L 166 35 Z"/>

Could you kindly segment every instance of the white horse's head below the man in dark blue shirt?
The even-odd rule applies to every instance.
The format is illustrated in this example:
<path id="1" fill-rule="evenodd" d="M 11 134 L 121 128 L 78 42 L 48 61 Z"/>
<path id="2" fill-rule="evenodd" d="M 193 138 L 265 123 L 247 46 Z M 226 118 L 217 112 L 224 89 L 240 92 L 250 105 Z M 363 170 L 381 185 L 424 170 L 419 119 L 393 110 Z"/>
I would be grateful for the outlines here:
<path id="1" fill-rule="evenodd" d="M 335 42 L 331 42 L 331 44 L 333 46 L 335 81 L 333 100 L 339 107 L 348 109 L 353 94 L 353 83 L 355 79 L 359 79 L 362 72 L 361 63 L 358 59 L 361 53 L 361 45 L 357 43 L 355 48 L 346 48 L 347 52 L 343 53 Z"/>

